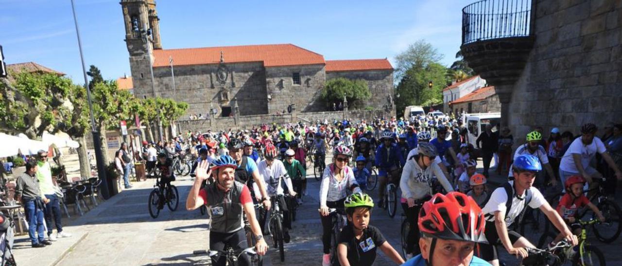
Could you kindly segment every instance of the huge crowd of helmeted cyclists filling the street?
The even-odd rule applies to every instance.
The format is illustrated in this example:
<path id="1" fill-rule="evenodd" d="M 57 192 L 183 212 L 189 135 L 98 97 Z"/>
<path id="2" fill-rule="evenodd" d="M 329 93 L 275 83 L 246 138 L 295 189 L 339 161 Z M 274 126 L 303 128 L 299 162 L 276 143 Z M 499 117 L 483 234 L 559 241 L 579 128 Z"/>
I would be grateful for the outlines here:
<path id="1" fill-rule="evenodd" d="M 562 241 L 577 245 L 573 234 L 577 208 L 588 206 L 600 221 L 606 220 L 583 196 L 603 177 L 589 166 L 590 160 L 600 154 L 618 180 L 622 173 L 595 137 L 596 130 L 595 125 L 585 124 L 582 135 L 570 140 L 559 156 L 557 173 L 541 145 L 542 134 L 529 132 L 526 144 L 511 160 L 508 182 L 492 191 L 486 189 L 487 177 L 476 172 L 476 152 L 467 144 L 462 122 L 452 118 L 208 129 L 180 135 L 169 147 L 178 147 L 176 156 L 183 152 L 192 160 L 191 175 L 196 178 L 186 207 L 207 206 L 211 249 L 226 245 L 243 250 L 254 245 L 256 253 L 264 255 L 269 246 L 264 234 L 274 229 L 266 221 L 275 215 L 282 215 L 282 240 L 289 242 L 292 212 L 307 195 L 307 171 L 320 167 L 322 265 L 372 265 L 377 249 L 403 265 L 499 265 L 498 247 L 520 259 L 536 249 L 511 227 L 520 222 L 527 206 L 540 209 L 559 232 L 550 246 Z M 160 154 L 170 155 L 168 150 Z M 324 165 L 327 153 L 332 163 Z M 536 181 L 543 169 L 546 181 Z M 374 178 L 379 184 L 377 199 L 365 193 Z M 550 206 L 534 182 L 562 184 L 560 192 L 566 194 L 559 206 Z M 374 206 L 386 208 L 388 184 L 400 188 L 399 200 L 411 224 L 402 232 L 406 240 L 402 254 L 370 225 Z M 339 236 L 333 236 L 336 217 L 347 220 Z M 248 243 L 249 234 L 253 243 Z M 251 265 L 246 254 L 240 257 L 239 265 Z M 213 265 L 225 265 L 225 260 L 213 258 Z"/>

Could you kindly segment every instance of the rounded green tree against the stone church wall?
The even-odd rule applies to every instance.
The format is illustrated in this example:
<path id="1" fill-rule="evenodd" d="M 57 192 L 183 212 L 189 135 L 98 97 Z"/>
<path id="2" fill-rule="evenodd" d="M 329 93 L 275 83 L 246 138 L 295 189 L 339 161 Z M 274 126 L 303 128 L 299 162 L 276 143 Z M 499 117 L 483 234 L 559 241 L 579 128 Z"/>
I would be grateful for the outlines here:
<path id="1" fill-rule="evenodd" d="M 343 102 L 344 95 L 348 100 L 348 106 L 353 109 L 362 107 L 364 101 L 371 98 L 367 81 L 348 80 L 347 78 L 334 78 L 326 81 L 320 97 L 329 108 L 332 108 L 333 103 Z"/>

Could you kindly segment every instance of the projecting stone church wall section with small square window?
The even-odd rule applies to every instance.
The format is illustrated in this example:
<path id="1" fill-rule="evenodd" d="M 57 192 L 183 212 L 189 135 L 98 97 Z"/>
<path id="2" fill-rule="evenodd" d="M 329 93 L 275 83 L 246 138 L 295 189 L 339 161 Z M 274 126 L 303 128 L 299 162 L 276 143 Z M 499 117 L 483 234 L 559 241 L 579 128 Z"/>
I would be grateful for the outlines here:
<path id="1" fill-rule="evenodd" d="M 300 85 L 294 84 L 292 79 L 294 73 L 300 73 Z M 267 113 L 286 111 L 289 104 L 296 104 L 295 108 L 299 111 L 322 111 L 324 106 L 319 96 L 325 81 L 324 65 L 266 68 L 267 93 L 272 97 L 267 104 Z"/>

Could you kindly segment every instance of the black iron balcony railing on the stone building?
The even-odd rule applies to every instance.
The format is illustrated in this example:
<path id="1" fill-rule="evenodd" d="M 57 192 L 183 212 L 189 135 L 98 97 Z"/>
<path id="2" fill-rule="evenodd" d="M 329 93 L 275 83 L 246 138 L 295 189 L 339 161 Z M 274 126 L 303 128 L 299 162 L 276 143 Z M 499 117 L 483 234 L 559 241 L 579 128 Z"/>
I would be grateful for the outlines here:
<path id="1" fill-rule="evenodd" d="M 532 0 L 482 0 L 462 9 L 462 44 L 531 35 Z"/>

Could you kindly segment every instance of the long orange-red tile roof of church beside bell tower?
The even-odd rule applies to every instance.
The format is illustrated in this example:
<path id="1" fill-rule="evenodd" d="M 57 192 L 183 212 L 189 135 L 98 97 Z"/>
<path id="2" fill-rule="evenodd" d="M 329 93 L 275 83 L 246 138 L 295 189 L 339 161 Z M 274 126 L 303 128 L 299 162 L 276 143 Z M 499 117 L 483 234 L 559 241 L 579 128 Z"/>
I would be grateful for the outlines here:
<path id="1" fill-rule="evenodd" d="M 323 64 L 318 53 L 293 44 L 241 45 L 225 47 L 182 48 L 154 50 L 154 67 L 173 65 L 205 65 L 220 63 L 223 52 L 225 63 L 263 62 L 265 67 Z"/>

